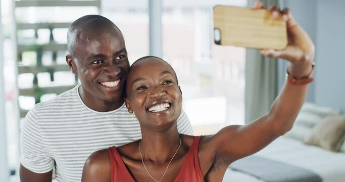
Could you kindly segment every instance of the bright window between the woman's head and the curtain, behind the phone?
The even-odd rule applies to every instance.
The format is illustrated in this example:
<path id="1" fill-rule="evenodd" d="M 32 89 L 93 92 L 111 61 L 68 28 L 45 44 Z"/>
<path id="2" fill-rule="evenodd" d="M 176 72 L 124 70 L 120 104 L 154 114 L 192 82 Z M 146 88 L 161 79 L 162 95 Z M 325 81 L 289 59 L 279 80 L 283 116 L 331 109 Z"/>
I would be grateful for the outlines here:
<path id="1" fill-rule="evenodd" d="M 175 69 L 194 133 L 244 124 L 245 49 L 213 42 L 213 6 L 247 1 L 164 1 L 163 59 Z"/>

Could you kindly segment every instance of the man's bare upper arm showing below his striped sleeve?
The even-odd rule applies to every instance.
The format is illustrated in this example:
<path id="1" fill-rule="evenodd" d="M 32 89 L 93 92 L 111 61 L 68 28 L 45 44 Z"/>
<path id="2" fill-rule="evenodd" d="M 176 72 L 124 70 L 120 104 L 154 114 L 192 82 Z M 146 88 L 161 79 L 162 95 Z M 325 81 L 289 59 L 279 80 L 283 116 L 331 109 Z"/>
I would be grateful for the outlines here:
<path id="1" fill-rule="evenodd" d="M 52 174 L 53 170 L 46 172 L 46 173 L 35 173 L 27 168 L 25 168 L 22 164 L 20 164 L 20 181 L 21 182 L 31 182 L 31 181 L 36 181 L 36 182 L 51 182 L 52 181 Z"/>

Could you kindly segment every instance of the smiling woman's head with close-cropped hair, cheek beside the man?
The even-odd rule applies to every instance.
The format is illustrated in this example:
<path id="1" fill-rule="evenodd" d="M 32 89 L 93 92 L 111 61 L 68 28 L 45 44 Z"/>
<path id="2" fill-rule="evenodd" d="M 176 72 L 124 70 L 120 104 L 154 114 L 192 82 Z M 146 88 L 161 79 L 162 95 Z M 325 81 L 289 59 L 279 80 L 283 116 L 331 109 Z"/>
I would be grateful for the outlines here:
<path id="1" fill-rule="evenodd" d="M 146 58 L 132 66 L 126 94 L 126 106 L 134 111 L 141 127 L 161 129 L 180 116 L 182 94 L 175 72 L 160 59 Z"/>

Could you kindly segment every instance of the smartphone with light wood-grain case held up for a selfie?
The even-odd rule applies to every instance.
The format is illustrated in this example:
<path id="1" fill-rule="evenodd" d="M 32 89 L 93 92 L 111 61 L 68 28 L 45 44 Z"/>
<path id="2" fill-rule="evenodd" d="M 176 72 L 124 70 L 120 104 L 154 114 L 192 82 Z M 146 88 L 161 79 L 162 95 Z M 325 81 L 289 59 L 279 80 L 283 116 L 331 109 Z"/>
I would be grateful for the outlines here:
<path id="1" fill-rule="evenodd" d="M 252 49 L 284 49 L 286 22 L 266 9 L 217 5 L 213 8 L 214 41 Z"/>

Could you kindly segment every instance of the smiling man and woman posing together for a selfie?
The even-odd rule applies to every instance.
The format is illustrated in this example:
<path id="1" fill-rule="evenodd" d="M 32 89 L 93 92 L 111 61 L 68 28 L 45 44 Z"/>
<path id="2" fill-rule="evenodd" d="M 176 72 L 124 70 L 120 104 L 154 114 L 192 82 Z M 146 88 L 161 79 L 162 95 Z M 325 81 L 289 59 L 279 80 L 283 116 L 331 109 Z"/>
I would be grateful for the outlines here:
<path id="1" fill-rule="evenodd" d="M 283 51 L 262 54 L 288 60 L 290 76 L 269 113 L 202 137 L 187 135 L 190 125 L 181 111 L 181 90 L 170 65 L 144 57 L 129 70 L 118 28 L 100 16 L 78 19 L 69 29 L 66 58 L 81 86 L 36 105 L 26 117 L 22 181 L 48 181 L 54 165 L 58 181 L 78 181 L 80 161 L 92 150 L 99 151 L 85 162 L 82 181 L 221 181 L 233 161 L 288 131 L 305 99 L 314 45 L 288 10 L 282 13 L 289 44 Z M 129 144 L 118 147 L 125 143 Z"/>

